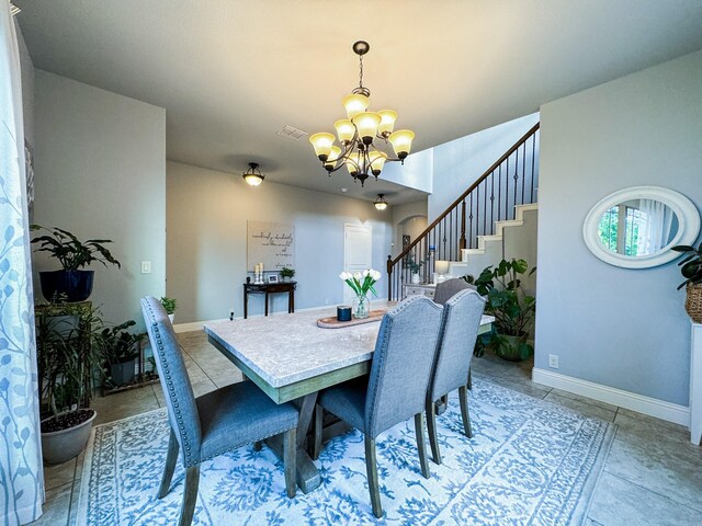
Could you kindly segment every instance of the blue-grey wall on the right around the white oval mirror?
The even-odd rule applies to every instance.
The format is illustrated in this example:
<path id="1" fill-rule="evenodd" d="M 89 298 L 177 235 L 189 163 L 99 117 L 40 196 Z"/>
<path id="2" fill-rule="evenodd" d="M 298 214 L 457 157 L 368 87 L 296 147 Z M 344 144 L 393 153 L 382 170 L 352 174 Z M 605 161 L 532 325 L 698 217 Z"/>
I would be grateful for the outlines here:
<path id="1" fill-rule="evenodd" d="M 611 266 L 588 251 L 582 222 L 602 197 L 636 185 L 700 208 L 701 123 L 702 52 L 542 106 L 535 367 L 557 354 L 558 374 L 688 405 L 677 261 Z"/>

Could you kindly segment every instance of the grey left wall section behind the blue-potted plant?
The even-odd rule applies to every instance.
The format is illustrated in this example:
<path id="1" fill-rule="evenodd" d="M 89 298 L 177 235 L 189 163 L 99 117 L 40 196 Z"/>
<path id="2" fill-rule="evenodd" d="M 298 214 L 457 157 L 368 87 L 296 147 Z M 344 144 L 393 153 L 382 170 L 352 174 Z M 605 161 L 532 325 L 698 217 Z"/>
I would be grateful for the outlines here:
<path id="1" fill-rule="evenodd" d="M 122 268 L 93 264 L 90 300 L 106 321 L 144 328 L 139 298 L 166 291 L 166 111 L 38 69 L 34 84 L 34 220 L 113 240 Z M 58 268 L 39 254 L 34 266 Z"/>

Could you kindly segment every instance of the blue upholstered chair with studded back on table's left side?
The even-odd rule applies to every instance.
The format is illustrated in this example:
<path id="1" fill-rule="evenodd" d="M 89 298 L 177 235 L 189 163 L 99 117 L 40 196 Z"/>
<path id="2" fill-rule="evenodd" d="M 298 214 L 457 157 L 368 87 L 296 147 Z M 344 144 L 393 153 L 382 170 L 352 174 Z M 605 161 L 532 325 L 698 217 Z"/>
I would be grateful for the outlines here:
<path id="1" fill-rule="evenodd" d="M 185 489 L 178 524 L 188 526 L 192 522 L 201 462 L 281 433 L 284 433 L 285 488 L 287 496 L 295 496 L 297 410 L 290 403 L 275 404 L 251 381 L 234 384 L 195 398 L 166 310 L 156 298 L 146 297 L 141 299 L 141 312 L 171 427 L 159 499 L 168 494 L 179 451 L 185 468 Z"/>

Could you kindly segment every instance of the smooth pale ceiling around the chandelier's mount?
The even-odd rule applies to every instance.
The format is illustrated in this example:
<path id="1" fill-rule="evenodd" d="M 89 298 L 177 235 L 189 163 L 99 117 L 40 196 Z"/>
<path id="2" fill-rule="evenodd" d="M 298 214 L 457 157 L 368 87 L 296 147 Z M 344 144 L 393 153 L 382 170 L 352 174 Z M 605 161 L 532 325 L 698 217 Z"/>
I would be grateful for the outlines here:
<path id="1" fill-rule="evenodd" d="M 13 1 L 37 68 L 166 108 L 169 159 L 390 203 L 423 194 L 329 179 L 306 138 L 275 134 L 333 132 L 354 41 L 372 108 L 396 110 L 415 151 L 702 48 L 700 0 Z"/>

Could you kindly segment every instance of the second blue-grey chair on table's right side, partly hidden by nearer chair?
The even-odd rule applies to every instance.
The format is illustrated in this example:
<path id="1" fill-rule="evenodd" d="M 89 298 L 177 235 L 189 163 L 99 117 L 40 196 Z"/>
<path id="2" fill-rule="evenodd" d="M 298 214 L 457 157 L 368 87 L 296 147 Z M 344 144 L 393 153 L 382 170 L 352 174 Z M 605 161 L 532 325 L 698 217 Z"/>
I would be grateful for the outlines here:
<path id="1" fill-rule="evenodd" d="M 441 451 L 437 441 L 435 402 L 454 389 L 458 389 L 463 428 L 468 438 L 473 436 L 468 416 L 467 379 L 484 309 L 485 299 L 475 290 L 462 290 L 443 306 L 435 365 L 426 407 L 429 443 L 437 464 L 441 464 Z"/>

